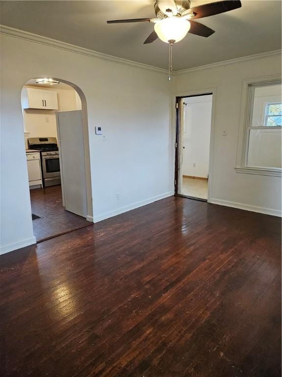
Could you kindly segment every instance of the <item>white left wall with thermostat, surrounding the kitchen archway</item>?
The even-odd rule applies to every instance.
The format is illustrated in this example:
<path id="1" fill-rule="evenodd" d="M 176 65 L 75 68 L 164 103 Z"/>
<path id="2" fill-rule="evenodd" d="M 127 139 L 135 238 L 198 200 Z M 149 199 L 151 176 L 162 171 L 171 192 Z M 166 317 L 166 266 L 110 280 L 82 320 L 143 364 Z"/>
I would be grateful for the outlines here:
<path id="1" fill-rule="evenodd" d="M 1 35 L 1 49 L 2 252 L 35 242 L 21 109 L 22 87 L 32 78 L 70 81 L 85 94 L 94 221 L 173 194 L 166 74 L 8 35 Z"/>

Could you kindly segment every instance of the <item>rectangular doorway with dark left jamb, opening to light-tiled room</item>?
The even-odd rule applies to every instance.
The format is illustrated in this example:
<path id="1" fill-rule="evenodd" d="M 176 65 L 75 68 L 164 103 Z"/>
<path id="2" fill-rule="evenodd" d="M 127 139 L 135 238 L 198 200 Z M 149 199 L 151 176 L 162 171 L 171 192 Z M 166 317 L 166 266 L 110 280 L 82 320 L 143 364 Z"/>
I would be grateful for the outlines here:
<path id="1" fill-rule="evenodd" d="M 212 93 L 176 98 L 175 194 L 208 201 Z"/>

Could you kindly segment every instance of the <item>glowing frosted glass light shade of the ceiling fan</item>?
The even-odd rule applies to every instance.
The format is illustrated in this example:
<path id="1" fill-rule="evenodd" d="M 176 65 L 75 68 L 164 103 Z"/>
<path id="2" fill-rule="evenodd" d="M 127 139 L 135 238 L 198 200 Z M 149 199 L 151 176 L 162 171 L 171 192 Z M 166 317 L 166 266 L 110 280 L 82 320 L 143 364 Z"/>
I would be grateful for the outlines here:
<path id="1" fill-rule="evenodd" d="M 156 22 L 154 26 L 158 37 L 165 43 L 169 43 L 169 40 L 181 41 L 188 33 L 189 28 L 189 21 L 180 17 L 167 17 Z"/>

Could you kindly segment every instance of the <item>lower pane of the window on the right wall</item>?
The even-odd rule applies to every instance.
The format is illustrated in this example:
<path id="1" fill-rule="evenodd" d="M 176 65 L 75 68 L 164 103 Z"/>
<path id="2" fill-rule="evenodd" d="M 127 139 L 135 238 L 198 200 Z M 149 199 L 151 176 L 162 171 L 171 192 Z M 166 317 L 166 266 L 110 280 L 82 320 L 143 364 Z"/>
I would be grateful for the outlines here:
<path id="1" fill-rule="evenodd" d="M 250 130 L 247 165 L 282 167 L 282 130 Z"/>

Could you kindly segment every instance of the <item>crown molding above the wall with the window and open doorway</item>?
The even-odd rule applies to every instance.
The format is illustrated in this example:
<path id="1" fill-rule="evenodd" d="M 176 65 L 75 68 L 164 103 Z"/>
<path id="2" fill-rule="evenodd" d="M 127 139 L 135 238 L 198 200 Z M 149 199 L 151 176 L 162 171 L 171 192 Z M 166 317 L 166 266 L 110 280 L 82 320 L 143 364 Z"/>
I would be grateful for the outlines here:
<path id="1" fill-rule="evenodd" d="M 182 69 L 182 70 L 179 70 L 179 71 L 174 71 L 174 76 L 183 75 L 183 74 L 196 72 L 196 71 L 202 71 L 202 70 L 206 70 L 206 69 L 223 67 L 225 65 L 243 63 L 245 61 L 250 61 L 250 60 L 263 59 L 265 57 L 281 56 L 281 54 L 282 54 L 282 50 L 274 50 L 274 51 L 269 51 L 267 53 L 236 57 L 235 59 L 231 59 L 231 60 L 224 60 L 224 61 L 219 61 L 217 63 L 200 65 L 198 67 L 192 67 L 192 68 Z"/>

